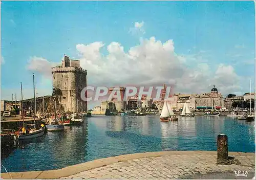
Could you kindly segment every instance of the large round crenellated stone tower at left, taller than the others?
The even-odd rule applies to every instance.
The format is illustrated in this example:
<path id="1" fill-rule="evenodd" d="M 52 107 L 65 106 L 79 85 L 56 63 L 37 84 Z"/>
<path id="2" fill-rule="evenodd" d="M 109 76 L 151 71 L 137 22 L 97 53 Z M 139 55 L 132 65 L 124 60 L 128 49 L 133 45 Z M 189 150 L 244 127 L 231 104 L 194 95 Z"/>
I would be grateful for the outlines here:
<path id="1" fill-rule="evenodd" d="M 64 55 L 61 66 L 52 68 L 53 89 L 61 110 L 87 111 L 87 102 L 81 99 L 81 91 L 87 86 L 87 71 L 80 67 L 79 60 Z"/>

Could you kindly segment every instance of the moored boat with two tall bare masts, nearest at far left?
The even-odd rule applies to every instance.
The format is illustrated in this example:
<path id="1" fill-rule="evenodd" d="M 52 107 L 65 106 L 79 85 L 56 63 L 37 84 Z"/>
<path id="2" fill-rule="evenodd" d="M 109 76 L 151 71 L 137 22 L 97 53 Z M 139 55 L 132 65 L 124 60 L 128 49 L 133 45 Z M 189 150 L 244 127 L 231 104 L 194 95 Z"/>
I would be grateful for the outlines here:
<path id="1" fill-rule="evenodd" d="M 18 134 L 16 134 L 18 140 L 27 140 L 32 138 L 38 138 L 44 135 L 45 133 L 45 125 L 41 124 L 39 129 L 35 128 L 35 76 L 33 74 L 33 85 L 34 85 L 34 124 L 25 124 L 24 123 L 24 111 L 22 107 L 22 119 L 23 119 L 23 128 L 20 128 Z M 20 88 L 22 90 L 22 82 L 20 82 Z M 23 103 L 23 94 L 22 94 L 22 103 Z M 33 128 L 26 128 L 25 125 L 32 126 Z"/>

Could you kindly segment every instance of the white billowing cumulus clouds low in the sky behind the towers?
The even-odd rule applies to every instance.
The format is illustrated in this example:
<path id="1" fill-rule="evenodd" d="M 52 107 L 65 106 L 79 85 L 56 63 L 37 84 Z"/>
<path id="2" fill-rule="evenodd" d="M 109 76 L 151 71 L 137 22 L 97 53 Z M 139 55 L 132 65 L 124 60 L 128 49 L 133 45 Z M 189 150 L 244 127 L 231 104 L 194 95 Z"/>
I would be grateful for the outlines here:
<path id="1" fill-rule="evenodd" d="M 101 53 L 104 46 L 108 51 L 106 54 Z M 240 77 L 231 65 L 219 64 L 214 68 L 202 55 L 177 55 L 172 39 L 165 42 L 155 37 L 141 39 L 127 52 L 119 42 L 77 44 L 76 49 L 80 66 L 88 71 L 88 85 L 151 86 L 167 83 L 174 87 L 175 93 L 205 93 L 216 85 L 224 95 L 241 89 Z M 47 76 L 51 74 L 52 66 L 44 58 L 33 57 L 28 69 Z"/>

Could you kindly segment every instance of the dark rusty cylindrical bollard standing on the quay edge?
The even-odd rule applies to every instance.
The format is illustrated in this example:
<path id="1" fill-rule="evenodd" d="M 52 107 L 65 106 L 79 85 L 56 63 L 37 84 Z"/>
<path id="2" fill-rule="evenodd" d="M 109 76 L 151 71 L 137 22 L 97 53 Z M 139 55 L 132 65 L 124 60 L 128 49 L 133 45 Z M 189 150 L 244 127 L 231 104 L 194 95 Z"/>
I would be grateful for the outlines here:
<path id="1" fill-rule="evenodd" d="M 218 135 L 217 160 L 228 160 L 228 144 L 225 134 Z"/>

